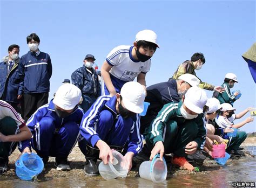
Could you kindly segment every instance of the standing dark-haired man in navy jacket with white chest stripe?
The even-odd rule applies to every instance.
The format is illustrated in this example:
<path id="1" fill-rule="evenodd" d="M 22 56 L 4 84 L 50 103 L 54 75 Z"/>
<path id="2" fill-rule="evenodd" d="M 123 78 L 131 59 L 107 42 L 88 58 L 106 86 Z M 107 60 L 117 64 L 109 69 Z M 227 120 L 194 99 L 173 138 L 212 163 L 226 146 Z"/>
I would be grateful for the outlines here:
<path id="1" fill-rule="evenodd" d="M 20 87 L 24 93 L 24 120 L 37 108 L 48 103 L 52 65 L 50 55 L 39 51 L 40 39 L 36 33 L 26 37 L 30 51 L 19 62 Z"/>

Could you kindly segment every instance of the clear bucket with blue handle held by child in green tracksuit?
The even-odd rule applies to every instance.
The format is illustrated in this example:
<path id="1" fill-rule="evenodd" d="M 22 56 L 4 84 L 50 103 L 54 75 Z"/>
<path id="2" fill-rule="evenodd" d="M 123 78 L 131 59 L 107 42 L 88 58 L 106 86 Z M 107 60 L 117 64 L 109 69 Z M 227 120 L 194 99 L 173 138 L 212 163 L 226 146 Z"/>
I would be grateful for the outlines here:
<path id="1" fill-rule="evenodd" d="M 167 177 L 167 166 L 165 159 L 160 161 L 159 154 L 152 161 L 144 161 L 139 166 L 139 176 L 153 182 L 164 182 Z"/>

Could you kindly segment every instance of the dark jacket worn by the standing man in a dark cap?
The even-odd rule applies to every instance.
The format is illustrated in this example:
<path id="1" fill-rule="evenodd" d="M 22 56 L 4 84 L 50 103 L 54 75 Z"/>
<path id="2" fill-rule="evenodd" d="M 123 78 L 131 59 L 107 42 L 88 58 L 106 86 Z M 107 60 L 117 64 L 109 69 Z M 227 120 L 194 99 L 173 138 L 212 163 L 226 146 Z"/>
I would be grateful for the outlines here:
<path id="1" fill-rule="evenodd" d="M 71 80 L 73 85 L 77 86 L 83 95 L 94 96 L 95 98 L 100 96 L 98 74 L 96 74 L 95 69 L 91 68 L 89 70 L 83 65 L 83 67 L 76 69 L 71 74 Z"/>

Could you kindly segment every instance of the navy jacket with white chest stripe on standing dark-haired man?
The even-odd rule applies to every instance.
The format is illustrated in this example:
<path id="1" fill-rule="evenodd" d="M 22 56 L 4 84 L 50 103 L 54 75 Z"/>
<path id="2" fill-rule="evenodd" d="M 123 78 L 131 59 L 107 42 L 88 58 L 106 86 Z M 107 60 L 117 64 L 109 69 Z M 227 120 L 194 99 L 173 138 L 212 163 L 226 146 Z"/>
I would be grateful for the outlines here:
<path id="1" fill-rule="evenodd" d="M 50 91 L 52 65 L 49 54 L 40 52 L 36 56 L 29 51 L 21 57 L 18 70 L 24 93 L 46 93 Z"/>

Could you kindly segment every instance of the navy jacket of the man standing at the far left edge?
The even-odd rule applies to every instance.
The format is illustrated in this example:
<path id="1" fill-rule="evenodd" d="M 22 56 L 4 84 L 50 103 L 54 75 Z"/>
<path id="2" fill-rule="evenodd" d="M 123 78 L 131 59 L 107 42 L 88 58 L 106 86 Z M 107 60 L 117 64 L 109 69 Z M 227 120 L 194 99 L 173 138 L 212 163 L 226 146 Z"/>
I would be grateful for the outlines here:
<path id="1" fill-rule="evenodd" d="M 6 102 L 19 103 L 17 97 L 22 94 L 21 87 L 19 87 L 18 75 L 18 62 L 15 61 L 11 71 L 8 73 L 9 56 L 3 58 L 3 62 L 0 62 L 0 99 Z"/>

